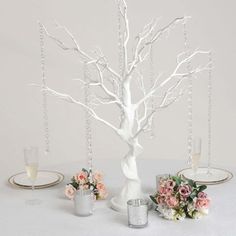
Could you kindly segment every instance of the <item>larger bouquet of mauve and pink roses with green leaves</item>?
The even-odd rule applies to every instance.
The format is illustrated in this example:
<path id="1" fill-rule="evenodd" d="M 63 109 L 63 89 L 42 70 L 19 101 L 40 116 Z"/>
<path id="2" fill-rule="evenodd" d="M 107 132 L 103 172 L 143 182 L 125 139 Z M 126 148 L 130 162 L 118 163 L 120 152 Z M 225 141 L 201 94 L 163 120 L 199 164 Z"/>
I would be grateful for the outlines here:
<path id="1" fill-rule="evenodd" d="M 168 220 L 197 219 L 208 214 L 210 199 L 205 189 L 206 185 L 198 186 L 193 180 L 169 176 L 160 179 L 157 193 L 150 198 L 157 204 L 156 211 Z"/>

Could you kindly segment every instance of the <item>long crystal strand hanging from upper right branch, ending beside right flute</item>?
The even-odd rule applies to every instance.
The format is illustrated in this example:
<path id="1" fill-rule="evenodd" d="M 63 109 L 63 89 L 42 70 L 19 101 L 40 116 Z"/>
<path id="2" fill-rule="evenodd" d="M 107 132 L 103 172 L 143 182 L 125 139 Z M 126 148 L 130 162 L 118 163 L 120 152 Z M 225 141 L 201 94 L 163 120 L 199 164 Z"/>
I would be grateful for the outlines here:
<path id="1" fill-rule="evenodd" d="M 186 22 L 183 23 L 183 30 L 184 30 L 184 47 L 185 51 L 189 51 L 189 44 L 188 44 L 188 34 L 187 34 L 187 27 Z M 187 63 L 187 71 L 190 73 L 191 71 L 191 63 L 190 61 Z M 188 102 L 188 140 L 187 140 L 187 149 L 188 149 L 188 164 L 191 164 L 192 161 L 192 142 L 193 142 L 193 78 L 189 74 L 188 78 L 188 94 L 187 94 L 187 102 Z"/>

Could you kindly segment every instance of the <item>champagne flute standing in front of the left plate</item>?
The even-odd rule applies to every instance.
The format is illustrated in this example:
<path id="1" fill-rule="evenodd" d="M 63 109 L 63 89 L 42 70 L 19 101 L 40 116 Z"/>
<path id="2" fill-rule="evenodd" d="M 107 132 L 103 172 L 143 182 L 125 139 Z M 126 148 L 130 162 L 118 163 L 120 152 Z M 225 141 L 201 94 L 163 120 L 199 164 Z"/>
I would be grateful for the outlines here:
<path id="1" fill-rule="evenodd" d="M 38 175 L 38 148 L 28 147 L 24 149 L 24 161 L 26 174 L 31 181 L 32 196 L 34 195 L 35 181 Z M 41 201 L 38 199 L 27 200 L 26 203 L 29 205 L 39 204 Z"/>

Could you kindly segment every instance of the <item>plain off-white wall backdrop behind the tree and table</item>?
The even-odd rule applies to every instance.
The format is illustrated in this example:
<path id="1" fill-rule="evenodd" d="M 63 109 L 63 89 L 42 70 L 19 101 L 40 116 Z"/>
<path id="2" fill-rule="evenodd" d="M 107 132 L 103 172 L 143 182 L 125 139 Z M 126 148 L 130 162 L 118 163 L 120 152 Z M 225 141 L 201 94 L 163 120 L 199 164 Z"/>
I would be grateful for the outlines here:
<path id="1" fill-rule="evenodd" d="M 210 49 L 214 55 L 213 72 L 213 164 L 236 165 L 234 156 L 236 111 L 235 74 L 236 27 L 235 1 L 215 0 L 128 0 L 131 38 L 148 21 L 162 17 L 160 26 L 172 18 L 191 15 L 189 37 L 192 48 Z M 56 19 L 74 33 L 81 47 L 91 50 L 100 46 L 117 68 L 117 8 L 113 0 L 1 0 L 0 15 L 0 158 L 10 168 L 21 168 L 27 145 L 43 150 L 42 97 L 30 83 L 40 83 L 40 48 L 37 20 L 56 32 Z M 62 38 L 64 36 L 60 33 Z M 130 44 L 132 47 L 132 44 Z M 167 40 L 155 46 L 155 72 L 173 68 L 175 55 L 183 50 L 182 26 L 177 26 Z M 83 99 L 79 83 L 81 75 L 76 55 L 62 51 L 46 41 L 47 79 L 52 88 Z M 207 135 L 207 73 L 199 76 L 194 88 L 194 135 L 203 138 L 202 163 L 206 162 Z M 85 156 L 84 111 L 75 105 L 49 97 L 51 153 L 44 162 L 63 163 L 83 160 Z M 144 134 L 141 158 L 175 158 L 187 160 L 186 97 L 155 117 L 155 139 Z M 113 110 L 102 109 L 113 120 Z M 111 130 L 93 122 L 94 158 L 121 158 L 125 145 Z M 43 156 L 43 152 L 42 152 Z"/>

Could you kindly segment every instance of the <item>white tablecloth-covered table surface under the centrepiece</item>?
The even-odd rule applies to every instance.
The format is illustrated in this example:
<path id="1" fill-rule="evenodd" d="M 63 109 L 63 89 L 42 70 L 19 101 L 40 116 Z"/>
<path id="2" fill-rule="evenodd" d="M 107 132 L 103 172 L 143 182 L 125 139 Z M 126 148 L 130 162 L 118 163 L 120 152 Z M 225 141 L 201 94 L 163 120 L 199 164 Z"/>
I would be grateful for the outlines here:
<path id="1" fill-rule="evenodd" d="M 138 160 L 144 190 L 153 193 L 155 175 L 174 174 L 184 162 L 170 160 Z M 119 190 L 123 179 L 118 160 L 97 160 L 97 169 L 105 174 L 110 196 Z M 43 169 L 57 170 L 65 174 L 63 183 L 48 189 L 36 190 L 42 200 L 38 206 L 26 205 L 30 190 L 14 189 L 7 178 L 14 174 L 13 168 L 1 168 L 0 235 L 2 236 L 72 236 L 72 235 L 165 235 L 165 236 L 235 236 L 236 235 L 236 179 L 209 186 L 207 193 L 212 199 L 210 214 L 200 220 L 186 219 L 181 222 L 167 221 L 155 211 L 149 212 L 149 225 L 143 229 L 127 226 L 127 216 L 109 208 L 109 201 L 97 201 L 92 216 L 78 217 L 74 214 L 73 201 L 64 197 L 64 186 L 82 166 L 79 163 L 54 165 Z M 233 170 L 232 166 L 229 170 Z M 16 172 L 22 171 L 15 169 Z M 235 174 L 235 173 L 234 173 Z"/>

